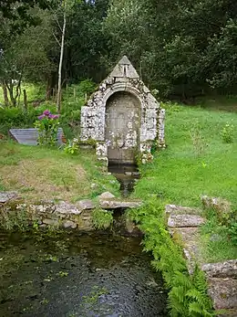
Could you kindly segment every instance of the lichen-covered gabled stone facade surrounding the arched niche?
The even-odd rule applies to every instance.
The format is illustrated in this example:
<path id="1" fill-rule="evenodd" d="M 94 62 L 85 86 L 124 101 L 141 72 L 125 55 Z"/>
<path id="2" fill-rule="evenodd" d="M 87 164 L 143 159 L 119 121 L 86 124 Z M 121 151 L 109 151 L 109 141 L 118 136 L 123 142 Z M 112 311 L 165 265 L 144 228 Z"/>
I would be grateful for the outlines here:
<path id="1" fill-rule="evenodd" d="M 108 76 L 81 109 L 81 140 L 97 142 L 99 158 L 107 159 L 109 140 L 106 139 L 106 107 L 110 96 L 118 91 L 126 91 L 135 96 L 140 103 L 139 152 L 149 153 L 151 144 L 158 140 L 160 147 L 165 147 L 164 119 L 165 111 L 152 96 L 149 89 L 139 79 L 137 72 L 127 59 L 118 63 L 117 69 Z M 127 63 L 127 64 L 126 64 Z M 121 69 L 126 76 L 121 77 Z"/>

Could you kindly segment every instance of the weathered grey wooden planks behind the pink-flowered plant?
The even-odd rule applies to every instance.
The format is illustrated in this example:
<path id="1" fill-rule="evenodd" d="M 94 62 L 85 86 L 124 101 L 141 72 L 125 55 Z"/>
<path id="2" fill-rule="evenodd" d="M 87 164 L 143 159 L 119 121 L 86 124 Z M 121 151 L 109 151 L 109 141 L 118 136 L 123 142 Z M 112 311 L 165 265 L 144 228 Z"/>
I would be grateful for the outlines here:
<path id="1" fill-rule="evenodd" d="M 25 145 L 37 145 L 38 131 L 37 129 L 10 129 L 10 135 L 17 143 Z M 62 128 L 57 130 L 57 144 L 62 145 L 64 132 Z"/>

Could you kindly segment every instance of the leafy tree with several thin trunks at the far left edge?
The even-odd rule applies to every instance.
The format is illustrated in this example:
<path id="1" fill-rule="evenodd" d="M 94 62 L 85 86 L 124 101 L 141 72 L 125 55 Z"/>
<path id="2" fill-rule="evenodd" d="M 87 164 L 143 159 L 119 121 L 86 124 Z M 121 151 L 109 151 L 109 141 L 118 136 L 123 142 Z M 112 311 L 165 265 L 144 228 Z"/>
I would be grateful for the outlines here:
<path id="1" fill-rule="evenodd" d="M 50 35 L 51 21 L 48 12 L 34 9 L 32 16 L 39 16 L 39 26 L 28 26 L 26 30 L 13 37 L 3 38 L 10 30 L 9 21 L 3 19 L 4 33 L 0 34 L 4 49 L 0 63 L 0 80 L 4 90 L 5 105 L 8 105 L 8 94 L 11 104 L 16 106 L 21 93 L 23 79 L 29 81 L 44 81 L 47 74 L 55 69 L 54 63 L 48 57 L 48 49 L 55 45 Z"/>

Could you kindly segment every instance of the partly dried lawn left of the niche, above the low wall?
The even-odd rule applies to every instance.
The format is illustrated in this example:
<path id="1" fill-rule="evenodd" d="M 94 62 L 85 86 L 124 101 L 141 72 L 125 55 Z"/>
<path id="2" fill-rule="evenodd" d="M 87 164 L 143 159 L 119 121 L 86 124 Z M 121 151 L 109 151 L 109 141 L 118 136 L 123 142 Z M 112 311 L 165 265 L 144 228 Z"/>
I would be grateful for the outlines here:
<path id="1" fill-rule="evenodd" d="M 92 184 L 96 188 L 91 188 Z M 113 176 L 102 173 L 92 151 L 69 156 L 59 150 L 0 142 L 0 190 L 15 190 L 33 201 L 75 202 L 105 191 L 119 195 L 118 187 Z"/>

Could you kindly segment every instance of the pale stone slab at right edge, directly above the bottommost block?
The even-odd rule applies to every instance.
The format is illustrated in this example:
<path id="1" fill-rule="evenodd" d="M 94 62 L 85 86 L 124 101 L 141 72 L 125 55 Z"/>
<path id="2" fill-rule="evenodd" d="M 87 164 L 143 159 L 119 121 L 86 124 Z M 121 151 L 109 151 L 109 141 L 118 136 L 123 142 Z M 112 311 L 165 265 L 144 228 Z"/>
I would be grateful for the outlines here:
<path id="1" fill-rule="evenodd" d="M 207 263 L 201 269 L 209 278 L 230 278 L 237 279 L 237 259 L 230 259 L 220 263 Z"/>

